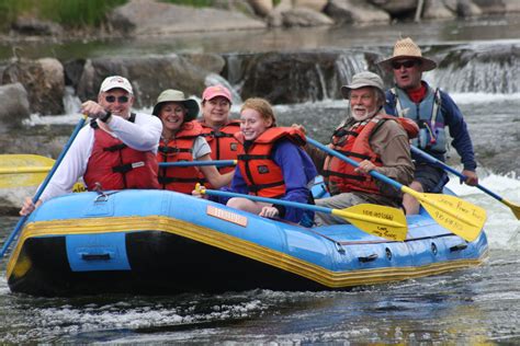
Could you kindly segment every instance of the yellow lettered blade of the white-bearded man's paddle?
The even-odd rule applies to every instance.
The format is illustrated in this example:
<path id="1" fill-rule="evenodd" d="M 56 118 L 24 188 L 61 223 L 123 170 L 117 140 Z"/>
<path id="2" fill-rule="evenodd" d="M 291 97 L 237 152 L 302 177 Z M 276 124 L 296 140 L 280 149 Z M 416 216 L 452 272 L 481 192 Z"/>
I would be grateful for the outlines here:
<path id="1" fill-rule="evenodd" d="M 407 188 L 406 193 L 410 192 L 437 223 L 468 242 L 477 239 L 486 222 L 486 210 L 455 196 L 421 194 Z"/>

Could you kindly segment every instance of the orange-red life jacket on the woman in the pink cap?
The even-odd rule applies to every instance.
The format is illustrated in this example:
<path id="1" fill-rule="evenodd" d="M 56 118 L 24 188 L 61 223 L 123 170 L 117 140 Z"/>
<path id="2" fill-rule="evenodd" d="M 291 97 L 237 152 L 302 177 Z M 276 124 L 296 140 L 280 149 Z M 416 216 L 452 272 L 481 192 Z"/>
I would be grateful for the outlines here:
<path id="1" fill-rule="evenodd" d="M 230 120 L 219 129 L 215 130 L 213 127 L 202 125 L 202 136 L 206 139 L 212 148 L 212 160 L 236 160 L 241 145 L 235 138 L 235 134 L 240 131 L 240 122 Z M 234 171 L 234 166 L 218 168 L 221 174 Z"/>

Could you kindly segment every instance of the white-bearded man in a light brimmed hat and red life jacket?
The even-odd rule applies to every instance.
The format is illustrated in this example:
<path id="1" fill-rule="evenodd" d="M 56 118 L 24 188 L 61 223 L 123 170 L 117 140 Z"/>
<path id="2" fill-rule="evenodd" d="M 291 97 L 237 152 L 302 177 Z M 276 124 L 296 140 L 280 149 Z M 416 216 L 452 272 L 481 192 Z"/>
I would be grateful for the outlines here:
<path id="1" fill-rule="evenodd" d="M 323 168 L 319 173 L 331 195 L 316 199 L 316 205 L 334 209 L 363 203 L 400 207 L 402 193 L 374 180 L 370 171 L 375 170 L 405 185 L 411 183 L 414 164 L 408 138 L 417 135 L 417 126 L 384 113 L 383 80 L 375 73 L 354 74 L 349 85 L 341 86 L 341 93 L 350 101 L 351 116 L 335 130 L 329 146 L 358 161 L 359 166 L 354 169 L 336 157 L 307 148 L 316 166 Z M 317 226 L 344 222 L 328 214 L 315 215 Z"/>

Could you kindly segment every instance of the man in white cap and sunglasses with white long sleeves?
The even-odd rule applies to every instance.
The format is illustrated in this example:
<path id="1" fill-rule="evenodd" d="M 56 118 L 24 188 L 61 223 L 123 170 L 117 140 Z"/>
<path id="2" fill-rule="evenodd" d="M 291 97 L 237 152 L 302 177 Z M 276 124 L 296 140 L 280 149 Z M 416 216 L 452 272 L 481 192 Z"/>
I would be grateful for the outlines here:
<path id="1" fill-rule="evenodd" d="M 157 148 L 162 130 L 159 118 L 131 113 L 134 91 L 121 76 L 108 77 L 98 102 L 87 101 L 81 113 L 91 118 L 70 146 L 38 203 L 70 193 L 83 177 L 87 189 L 159 188 Z M 34 210 L 31 198 L 20 214 Z"/>

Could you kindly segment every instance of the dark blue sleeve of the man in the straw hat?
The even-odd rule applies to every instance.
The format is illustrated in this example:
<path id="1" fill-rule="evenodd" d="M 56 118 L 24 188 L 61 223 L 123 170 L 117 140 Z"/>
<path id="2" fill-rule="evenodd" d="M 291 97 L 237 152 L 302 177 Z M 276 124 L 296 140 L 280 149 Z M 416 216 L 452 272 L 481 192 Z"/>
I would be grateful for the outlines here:
<path id="1" fill-rule="evenodd" d="M 451 99 L 450 95 L 442 91 L 441 107 L 445 125 L 448 125 L 450 129 L 450 136 L 453 138 L 453 141 L 451 143 L 461 157 L 464 170 L 475 171 L 475 153 L 473 151 L 473 143 L 470 137 L 470 132 L 467 131 L 466 122 L 464 122 L 462 112 L 459 109 L 453 99 Z"/>

